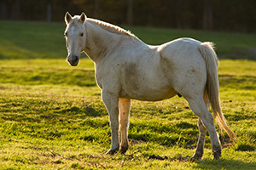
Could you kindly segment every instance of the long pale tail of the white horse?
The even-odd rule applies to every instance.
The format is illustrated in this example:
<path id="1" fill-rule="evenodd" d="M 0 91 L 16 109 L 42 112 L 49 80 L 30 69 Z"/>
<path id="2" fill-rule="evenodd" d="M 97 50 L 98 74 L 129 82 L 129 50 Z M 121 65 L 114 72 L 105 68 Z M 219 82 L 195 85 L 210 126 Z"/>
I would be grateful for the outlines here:
<path id="1" fill-rule="evenodd" d="M 212 105 L 212 110 L 214 117 L 218 122 L 218 126 L 224 130 L 235 143 L 236 135 L 228 127 L 223 112 L 221 111 L 218 83 L 218 57 L 213 46 L 214 44 L 212 42 L 202 42 L 198 47 L 207 66 L 207 95 Z"/>

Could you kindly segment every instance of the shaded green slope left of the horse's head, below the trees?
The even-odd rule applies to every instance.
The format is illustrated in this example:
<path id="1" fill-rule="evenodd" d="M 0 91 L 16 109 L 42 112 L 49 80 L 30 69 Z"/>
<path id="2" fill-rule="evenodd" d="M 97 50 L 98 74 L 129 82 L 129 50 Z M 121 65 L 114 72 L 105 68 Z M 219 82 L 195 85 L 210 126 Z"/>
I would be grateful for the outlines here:
<path id="1" fill-rule="evenodd" d="M 1 59 L 53 59 L 65 56 L 64 25 L 0 21 Z"/>

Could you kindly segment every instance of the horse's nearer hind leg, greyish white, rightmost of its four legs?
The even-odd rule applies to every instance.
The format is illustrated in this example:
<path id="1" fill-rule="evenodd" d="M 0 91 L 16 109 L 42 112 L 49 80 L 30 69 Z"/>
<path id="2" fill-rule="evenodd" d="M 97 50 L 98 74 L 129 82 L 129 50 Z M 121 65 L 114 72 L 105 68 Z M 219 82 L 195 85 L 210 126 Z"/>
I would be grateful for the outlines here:
<path id="1" fill-rule="evenodd" d="M 221 146 L 214 126 L 213 117 L 207 110 L 207 106 L 204 104 L 201 97 L 193 97 L 187 100 L 189 101 L 191 110 L 201 119 L 205 127 L 207 127 L 212 141 L 213 160 L 217 160 L 221 156 Z M 203 138 L 203 136 L 201 136 L 201 138 Z M 202 143 L 200 142 L 200 144 Z"/>

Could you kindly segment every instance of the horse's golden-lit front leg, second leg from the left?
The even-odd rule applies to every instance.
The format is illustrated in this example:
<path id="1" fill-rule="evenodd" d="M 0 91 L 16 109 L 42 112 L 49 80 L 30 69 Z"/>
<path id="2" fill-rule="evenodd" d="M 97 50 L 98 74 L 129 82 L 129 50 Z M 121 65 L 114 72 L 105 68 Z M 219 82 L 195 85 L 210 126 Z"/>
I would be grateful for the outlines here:
<path id="1" fill-rule="evenodd" d="M 119 98 L 119 127 L 121 132 L 121 148 L 120 153 L 125 154 L 128 150 L 128 124 L 129 113 L 131 107 L 131 99 Z"/>

